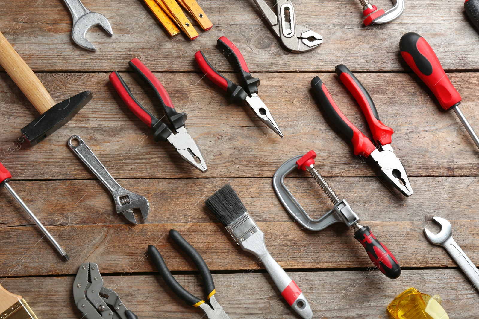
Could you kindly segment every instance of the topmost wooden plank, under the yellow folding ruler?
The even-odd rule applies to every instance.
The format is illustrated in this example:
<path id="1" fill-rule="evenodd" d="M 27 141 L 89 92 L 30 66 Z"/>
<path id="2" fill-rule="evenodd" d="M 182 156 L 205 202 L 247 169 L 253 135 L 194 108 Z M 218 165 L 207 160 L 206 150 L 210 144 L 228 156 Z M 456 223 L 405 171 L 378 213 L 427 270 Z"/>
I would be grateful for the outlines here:
<path id="1" fill-rule="evenodd" d="M 399 39 L 408 31 L 426 37 L 446 69 L 479 67 L 474 54 L 479 36 L 466 20 L 461 3 L 424 0 L 420 7 L 406 5 L 395 22 L 364 27 L 357 1 L 345 1 L 341 6 L 335 0 L 294 1 L 297 24 L 321 34 L 324 43 L 304 54 L 289 54 L 252 1 L 198 2 L 215 27 L 200 31 L 193 42 L 183 35 L 170 38 L 139 0 L 85 1 L 91 11 L 108 18 L 114 32 L 111 38 L 98 28 L 88 33 L 87 38 L 98 48 L 94 54 L 72 43 L 71 17 L 61 1 L 42 0 L 34 6 L 26 0 L 3 1 L 0 27 L 26 62 L 42 71 L 125 70 L 126 62 L 135 56 L 157 71 L 198 70 L 194 52 L 204 50 L 216 63 L 215 56 L 221 55 L 215 44 L 222 35 L 241 49 L 252 71 L 329 71 L 340 63 L 349 63 L 354 70 L 404 70 L 405 63 L 398 55 Z M 387 0 L 375 4 L 385 9 L 391 6 Z M 230 70 L 228 63 L 218 66 Z"/>

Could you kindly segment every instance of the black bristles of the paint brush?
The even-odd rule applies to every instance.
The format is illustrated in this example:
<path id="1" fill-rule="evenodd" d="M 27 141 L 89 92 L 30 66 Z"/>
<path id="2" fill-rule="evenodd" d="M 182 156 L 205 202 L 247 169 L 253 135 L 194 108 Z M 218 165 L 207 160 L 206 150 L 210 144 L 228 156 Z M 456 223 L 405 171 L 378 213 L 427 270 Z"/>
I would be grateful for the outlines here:
<path id="1" fill-rule="evenodd" d="M 206 199 L 206 207 L 209 208 L 215 214 L 216 218 L 225 226 L 228 226 L 239 216 L 247 212 L 241 199 L 239 199 L 229 184 L 221 187 L 215 194 Z"/>

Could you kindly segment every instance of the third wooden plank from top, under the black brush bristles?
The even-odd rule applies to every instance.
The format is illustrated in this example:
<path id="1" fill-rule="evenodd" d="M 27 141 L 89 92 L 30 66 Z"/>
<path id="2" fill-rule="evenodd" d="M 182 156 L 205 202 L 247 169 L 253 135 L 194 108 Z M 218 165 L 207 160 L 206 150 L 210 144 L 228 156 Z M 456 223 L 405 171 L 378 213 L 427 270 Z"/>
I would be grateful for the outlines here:
<path id="1" fill-rule="evenodd" d="M 332 204 L 314 180 L 287 178 L 286 186 L 314 218 Z M 410 198 L 392 194 L 375 177 L 328 177 L 337 194 L 346 198 L 362 220 L 422 221 L 439 215 L 447 220 L 475 220 L 479 211 L 476 196 L 478 177 L 414 177 L 415 193 Z M 221 179 L 129 179 L 126 189 L 148 198 L 150 213 L 146 223 L 210 223 L 216 221 L 205 200 L 230 183 L 258 222 L 289 222 L 276 198 L 271 178 Z M 125 225 L 116 214 L 110 193 L 97 180 L 11 182 L 17 193 L 46 226 Z M 1 227 L 34 225 L 6 190 L 0 190 L 3 214 Z M 447 207 L 447 209 L 441 209 Z M 138 223 L 143 223 L 137 216 Z"/>

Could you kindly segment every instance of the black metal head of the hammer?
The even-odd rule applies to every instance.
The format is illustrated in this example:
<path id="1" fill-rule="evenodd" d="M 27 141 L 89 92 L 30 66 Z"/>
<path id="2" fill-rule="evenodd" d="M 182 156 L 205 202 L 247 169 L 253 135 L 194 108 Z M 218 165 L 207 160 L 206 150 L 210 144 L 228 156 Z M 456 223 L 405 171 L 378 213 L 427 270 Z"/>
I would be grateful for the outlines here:
<path id="1" fill-rule="evenodd" d="M 70 121 L 92 98 L 90 91 L 81 92 L 57 103 L 22 129 L 23 137 L 32 145 Z"/>

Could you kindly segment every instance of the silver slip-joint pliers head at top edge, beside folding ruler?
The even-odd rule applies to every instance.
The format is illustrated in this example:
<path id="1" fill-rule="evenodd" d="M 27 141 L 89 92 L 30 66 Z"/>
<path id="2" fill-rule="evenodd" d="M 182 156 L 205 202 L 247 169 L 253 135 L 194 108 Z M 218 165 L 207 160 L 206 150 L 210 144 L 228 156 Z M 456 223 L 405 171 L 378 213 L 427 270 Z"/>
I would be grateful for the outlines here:
<path id="1" fill-rule="evenodd" d="M 273 10 L 264 0 L 254 0 L 283 46 L 291 52 L 306 52 L 315 49 L 323 43 L 323 37 L 309 30 L 307 27 L 296 24 L 295 10 L 291 0 L 276 0 L 276 10 Z"/>

